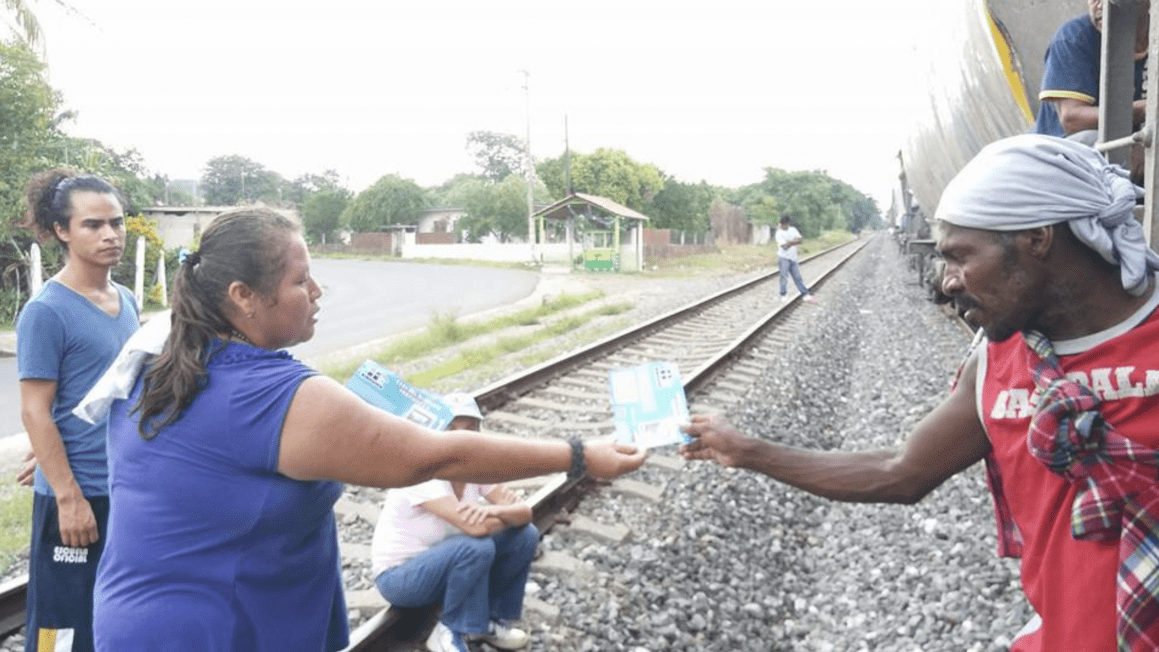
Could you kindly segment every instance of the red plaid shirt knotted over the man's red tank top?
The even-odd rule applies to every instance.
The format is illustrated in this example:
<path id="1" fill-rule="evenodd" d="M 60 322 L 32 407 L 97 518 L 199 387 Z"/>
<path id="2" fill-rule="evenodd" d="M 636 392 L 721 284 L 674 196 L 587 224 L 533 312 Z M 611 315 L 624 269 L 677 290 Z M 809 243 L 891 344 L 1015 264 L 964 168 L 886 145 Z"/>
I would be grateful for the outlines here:
<path id="1" fill-rule="evenodd" d="M 1050 471 L 1080 485 L 1071 510 L 1077 540 L 1118 541 L 1118 650 L 1159 649 L 1159 452 L 1127 439 L 1099 413 L 1099 397 L 1066 378 L 1050 340 L 1022 334 L 1038 357 L 1038 404 L 1027 449 Z M 998 518 L 998 549 L 1020 556 L 1021 535 L 1001 490 L 993 454 L 986 479 Z"/>

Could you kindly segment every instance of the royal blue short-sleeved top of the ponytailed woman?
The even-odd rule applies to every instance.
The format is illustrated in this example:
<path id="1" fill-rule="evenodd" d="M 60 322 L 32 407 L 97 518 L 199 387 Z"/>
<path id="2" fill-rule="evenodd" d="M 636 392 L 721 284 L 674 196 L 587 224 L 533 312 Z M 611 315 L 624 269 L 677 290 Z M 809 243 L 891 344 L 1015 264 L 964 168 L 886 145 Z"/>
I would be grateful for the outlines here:
<path id="1" fill-rule="evenodd" d="M 285 351 L 211 346 L 204 389 L 155 438 L 130 415 L 140 379 L 112 405 L 96 649 L 341 650 L 343 486 L 277 471 L 286 411 L 315 372 Z"/>

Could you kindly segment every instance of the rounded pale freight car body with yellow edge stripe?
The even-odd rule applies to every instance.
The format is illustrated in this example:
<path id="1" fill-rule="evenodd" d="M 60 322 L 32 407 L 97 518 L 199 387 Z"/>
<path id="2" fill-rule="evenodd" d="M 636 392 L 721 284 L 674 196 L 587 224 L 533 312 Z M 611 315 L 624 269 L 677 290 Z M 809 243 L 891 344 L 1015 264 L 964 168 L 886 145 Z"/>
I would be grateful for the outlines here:
<path id="1" fill-rule="evenodd" d="M 1026 133 L 1038 111 L 1043 58 L 1055 30 L 1086 0 L 961 0 L 931 12 L 931 46 L 918 53 L 927 89 L 890 213 L 927 286 L 938 276 L 928 219 L 942 190 L 984 146 Z M 936 16 L 936 17 L 934 17 Z"/>

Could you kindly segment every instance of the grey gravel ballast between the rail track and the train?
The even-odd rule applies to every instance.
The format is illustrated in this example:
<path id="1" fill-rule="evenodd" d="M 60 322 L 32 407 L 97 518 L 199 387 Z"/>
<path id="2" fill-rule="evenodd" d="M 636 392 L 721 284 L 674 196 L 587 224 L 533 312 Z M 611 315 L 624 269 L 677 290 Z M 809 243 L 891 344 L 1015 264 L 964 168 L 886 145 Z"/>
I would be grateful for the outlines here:
<path id="1" fill-rule="evenodd" d="M 729 418 L 808 448 L 903 441 L 968 345 L 914 276 L 888 239 L 868 244 Z M 560 616 L 529 616 L 532 649 L 981 652 L 1006 650 L 1030 617 L 1016 561 L 994 555 L 981 464 L 904 506 L 693 462 L 668 476 L 661 505 L 602 496 L 583 512 L 628 525 L 632 540 L 584 549 L 593 577 L 533 574 Z M 542 547 L 575 550 L 553 536 Z"/>

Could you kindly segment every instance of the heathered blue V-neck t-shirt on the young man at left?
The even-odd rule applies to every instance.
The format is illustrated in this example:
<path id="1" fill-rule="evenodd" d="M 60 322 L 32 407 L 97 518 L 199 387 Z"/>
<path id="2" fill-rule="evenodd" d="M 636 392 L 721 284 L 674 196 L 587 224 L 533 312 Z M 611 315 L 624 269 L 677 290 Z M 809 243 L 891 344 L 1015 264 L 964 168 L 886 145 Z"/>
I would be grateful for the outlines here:
<path id="1" fill-rule="evenodd" d="M 124 286 L 116 287 L 121 293 L 121 310 L 116 316 L 66 285 L 49 280 L 16 320 L 17 378 L 57 383 L 52 420 L 85 496 L 109 495 L 105 422 L 89 424 L 72 410 L 109 368 L 139 324 L 133 295 Z M 53 496 L 39 468 L 32 488 L 37 493 Z"/>

